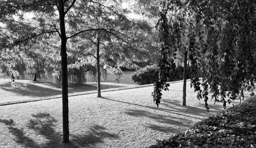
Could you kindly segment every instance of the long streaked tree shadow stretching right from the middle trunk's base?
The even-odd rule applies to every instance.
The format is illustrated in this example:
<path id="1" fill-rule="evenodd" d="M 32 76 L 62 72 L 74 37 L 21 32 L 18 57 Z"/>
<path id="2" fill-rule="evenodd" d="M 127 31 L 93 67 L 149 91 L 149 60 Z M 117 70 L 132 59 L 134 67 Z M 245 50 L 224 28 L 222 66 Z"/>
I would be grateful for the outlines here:
<path id="1" fill-rule="evenodd" d="M 200 108 L 199 106 L 198 107 L 182 106 L 179 100 L 168 100 L 168 99 L 164 99 L 162 102 L 165 105 L 159 108 L 152 107 L 152 106 L 145 106 L 137 103 L 124 102 L 117 99 L 109 99 L 105 97 L 102 97 L 101 99 L 140 106 L 141 109 L 127 110 L 125 113 L 134 117 L 150 118 L 157 123 L 164 124 L 163 126 L 160 126 L 160 124 L 146 125 L 147 128 L 151 128 L 153 130 L 157 130 L 160 132 L 172 132 L 172 133 L 181 132 L 186 128 L 191 128 L 192 124 L 195 122 L 194 120 L 203 120 L 204 118 L 209 117 L 209 114 L 213 115 L 217 113 L 218 112 L 217 109 L 219 109 L 216 106 L 216 110 L 212 110 L 211 113 L 208 113 L 204 109 L 204 105 L 202 105 L 202 108 Z M 162 102 L 161 102 L 161 105 L 163 105 Z M 166 112 L 170 115 L 155 113 L 155 111 L 157 110 Z M 174 128 L 174 126 L 176 128 Z"/>

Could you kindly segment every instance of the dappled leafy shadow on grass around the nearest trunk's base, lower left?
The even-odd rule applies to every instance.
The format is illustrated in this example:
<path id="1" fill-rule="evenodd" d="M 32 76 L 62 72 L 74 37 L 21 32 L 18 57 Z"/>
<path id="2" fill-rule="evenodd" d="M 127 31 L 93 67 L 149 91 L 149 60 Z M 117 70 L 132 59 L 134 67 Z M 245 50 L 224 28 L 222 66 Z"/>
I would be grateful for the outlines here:
<path id="1" fill-rule="evenodd" d="M 105 132 L 106 128 L 94 125 L 90 128 L 87 135 L 70 135 L 71 141 L 69 143 L 62 143 L 62 136 L 60 133 L 54 130 L 54 123 L 57 122 L 54 117 L 51 117 L 48 113 L 32 114 L 32 118 L 28 122 L 28 129 L 33 130 L 36 135 L 42 135 L 45 142 L 42 144 L 37 143 L 31 136 L 27 136 L 27 132 L 23 128 L 18 128 L 12 119 L 1 120 L 0 123 L 4 123 L 8 126 L 9 132 L 15 136 L 15 142 L 28 148 L 55 148 L 55 147 L 67 147 L 67 148 L 80 148 L 80 147 L 93 147 L 96 143 L 102 143 L 104 138 L 118 138 L 117 135 Z M 30 133 L 34 133 L 30 132 Z M 35 137 L 34 136 L 34 137 Z"/>

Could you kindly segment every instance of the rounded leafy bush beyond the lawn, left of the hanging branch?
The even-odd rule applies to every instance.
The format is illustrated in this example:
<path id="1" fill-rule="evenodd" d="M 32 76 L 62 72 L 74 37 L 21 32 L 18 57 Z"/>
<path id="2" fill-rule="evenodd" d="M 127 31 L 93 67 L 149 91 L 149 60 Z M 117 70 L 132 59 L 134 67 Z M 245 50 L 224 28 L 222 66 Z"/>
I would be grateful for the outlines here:
<path id="1" fill-rule="evenodd" d="M 158 81 L 158 67 L 156 65 L 146 66 L 137 70 L 131 77 L 138 84 L 151 84 Z"/>

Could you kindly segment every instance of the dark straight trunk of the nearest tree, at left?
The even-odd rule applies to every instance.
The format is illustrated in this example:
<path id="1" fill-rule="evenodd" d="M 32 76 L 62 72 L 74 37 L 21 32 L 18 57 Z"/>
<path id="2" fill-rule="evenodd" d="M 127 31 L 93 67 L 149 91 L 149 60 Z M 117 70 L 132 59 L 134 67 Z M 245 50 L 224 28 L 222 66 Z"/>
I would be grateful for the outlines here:
<path id="1" fill-rule="evenodd" d="M 59 17 L 61 33 L 61 70 L 62 70 L 62 114 L 63 143 L 69 142 L 69 103 L 68 103 L 68 68 L 67 68 L 67 37 L 65 31 L 64 1 L 59 0 Z"/>

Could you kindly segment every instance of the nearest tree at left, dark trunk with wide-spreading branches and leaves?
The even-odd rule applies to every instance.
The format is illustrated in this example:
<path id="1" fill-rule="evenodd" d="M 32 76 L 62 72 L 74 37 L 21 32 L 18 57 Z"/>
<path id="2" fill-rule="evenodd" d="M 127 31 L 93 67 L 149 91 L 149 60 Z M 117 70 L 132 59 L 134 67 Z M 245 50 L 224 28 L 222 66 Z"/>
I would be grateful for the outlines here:
<path id="1" fill-rule="evenodd" d="M 0 5 L 0 16 L 3 16 L 2 23 L 6 25 L 6 30 L 13 33 L 9 37 L 9 41 L 4 45 L 8 49 L 13 49 L 24 44 L 32 44 L 32 39 L 41 39 L 54 37 L 59 35 L 60 41 L 60 55 L 61 55 L 61 78 L 62 78 L 62 114 L 63 114 L 63 142 L 69 142 L 69 109 L 68 109 L 68 54 L 67 43 L 70 39 L 79 37 L 82 34 L 105 31 L 111 34 L 113 37 L 126 41 L 126 47 L 131 47 L 130 42 L 136 44 L 141 42 L 140 38 L 136 38 L 138 35 L 135 32 L 130 31 L 130 35 L 126 35 L 127 30 L 117 30 L 118 24 L 123 22 L 131 22 L 125 16 L 125 10 L 120 9 L 120 5 L 117 7 L 109 7 L 110 1 L 83 1 L 83 0 L 7 0 Z M 114 3 L 120 4 L 121 1 L 115 1 Z M 112 13 L 113 18 L 120 18 L 122 21 L 116 22 L 116 26 L 97 28 L 95 26 L 87 27 L 90 22 L 91 7 L 90 5 L 97 5 L 98 9 L 102 7 Z M 10 13 L 11 12 L 11 13 Z M 92 11 L 93 12 L 93 11 Z M 8 14 L 9 13 L 9 14 Z M 102 11 L 102 15 L 105 15 L 105 10 Z M 8 15 L 6 15 L 8 14 Z M 23 22 L 24 14 L 32 14 L 35 16 L 34 23 Z M 15 18 L 13 17 L 15 16 Z M 111 18 L 110 17 L 110 18 Z M 11 23 L 6 21 L 12 20 Z M 58 21 L 58 23 L 56 23 Z M 82 24 L 82 25 L 81 25 Z M 123 27 L 128 27 L 129 24 L 123 24 Z"/>

